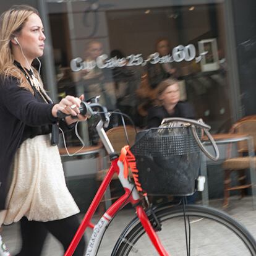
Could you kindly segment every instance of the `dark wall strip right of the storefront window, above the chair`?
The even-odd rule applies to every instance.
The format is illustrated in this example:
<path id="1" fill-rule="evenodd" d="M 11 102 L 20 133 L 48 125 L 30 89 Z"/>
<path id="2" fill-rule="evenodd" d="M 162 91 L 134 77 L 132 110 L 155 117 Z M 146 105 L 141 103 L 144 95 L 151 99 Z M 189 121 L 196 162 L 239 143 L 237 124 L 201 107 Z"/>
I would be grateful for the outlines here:
<path id="1" fill-rule="evenodd" d="M 256 1 L 234 0 L 233 11 L 242 105 L 256 114 Z"/>

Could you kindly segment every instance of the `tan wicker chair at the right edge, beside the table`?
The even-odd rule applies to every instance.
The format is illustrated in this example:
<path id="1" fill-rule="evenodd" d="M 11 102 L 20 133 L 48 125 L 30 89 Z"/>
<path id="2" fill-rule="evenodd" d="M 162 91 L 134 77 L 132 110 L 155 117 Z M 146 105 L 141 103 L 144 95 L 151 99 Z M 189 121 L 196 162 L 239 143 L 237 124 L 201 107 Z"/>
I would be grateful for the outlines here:
<path id="1" fill-rule="evenodd" d="M 230 132 L 232 134 L 247 134 L 253 137 L 254 145 L 256 145 L 256 115 L 243 117 L 237 121 Z M 252 187 L 253 184 L 246 183 L 245 169 L 250 168 L 250 163 L 256 164 L 256 157 L 250 158 L 248 156 L 247 142 L 238 142 L 237 150 L 238 157 L 229 158 L 223 162 L 224 169 L 224 201 L 223 207 L 227 207 L 229 203 L 229 192 L 231 190 L 241 190 L 241 198 L 244 197 L 244 189 Z M 252 161 L 252 162 L 251 162 Z M 231 173 L 238 171 L 238 185 L 231 186 Z"/>

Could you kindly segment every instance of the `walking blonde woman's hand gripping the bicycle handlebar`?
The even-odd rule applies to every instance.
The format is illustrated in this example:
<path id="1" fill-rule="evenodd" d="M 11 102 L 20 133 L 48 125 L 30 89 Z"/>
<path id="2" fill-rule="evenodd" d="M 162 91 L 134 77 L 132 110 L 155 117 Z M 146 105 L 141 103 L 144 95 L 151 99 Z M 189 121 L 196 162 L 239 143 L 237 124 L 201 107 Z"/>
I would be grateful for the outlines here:
<path id="1" fill-rule="evenodd" d="M 67 124 L 72 124 L 73 122 L 77 121 L 85 121 L 87 119 L 86 116 L 83 116 L 82 114 L 79 114 L 79 106 L 81 101 L 83 100 L 84 96 L 81 95 L 79 98 L 67 95 L 65 98 L 63 98 L 58 104 L 53 106 L 53 109 L 51 110 L 51 113 L 54 117 L 57 117 L 57 112 L 61 111 L 65 114 L 70 114 L 71 116 L 65 117 Z M 77 117 L 77 118 L 74 118 Z"/>

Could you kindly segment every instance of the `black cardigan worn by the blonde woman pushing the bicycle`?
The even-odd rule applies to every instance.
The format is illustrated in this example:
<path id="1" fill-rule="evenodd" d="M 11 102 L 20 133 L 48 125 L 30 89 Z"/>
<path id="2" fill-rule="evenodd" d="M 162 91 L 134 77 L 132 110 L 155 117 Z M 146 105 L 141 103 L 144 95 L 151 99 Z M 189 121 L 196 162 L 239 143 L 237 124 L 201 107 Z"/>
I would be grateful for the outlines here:
<path id="1" fill-rule="evenodd" d="M 4 209 L 11 182 L 11 164 L 22 142 L 25 126 L 54 124 L 54 104 L 36 100 L 33 94 L 19 87 L 14 77 L 0 78 L 0 210 Z"/>

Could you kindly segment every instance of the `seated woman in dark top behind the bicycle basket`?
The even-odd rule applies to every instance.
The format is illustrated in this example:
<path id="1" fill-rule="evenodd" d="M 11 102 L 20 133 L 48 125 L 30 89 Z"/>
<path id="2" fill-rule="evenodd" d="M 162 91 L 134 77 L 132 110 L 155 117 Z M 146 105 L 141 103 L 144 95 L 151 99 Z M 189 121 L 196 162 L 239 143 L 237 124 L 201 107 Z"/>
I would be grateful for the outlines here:
<path id="1" fill-rule="evenodd" d="M 147 127 L 158 127 L 167 117 L 195 119 L 192 105 L 180 101 L 179 84 L 176 79 L 166 79 L 158 85 L 156 105 L 148 109 Z"/>

